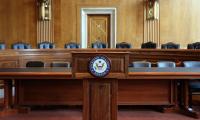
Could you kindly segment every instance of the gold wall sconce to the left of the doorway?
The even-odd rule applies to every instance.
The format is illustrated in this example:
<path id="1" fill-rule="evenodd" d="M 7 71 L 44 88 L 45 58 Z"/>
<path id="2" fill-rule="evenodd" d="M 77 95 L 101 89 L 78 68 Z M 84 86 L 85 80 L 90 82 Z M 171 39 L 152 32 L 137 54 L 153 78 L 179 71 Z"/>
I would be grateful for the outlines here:
<path id="1" fill-rule="evenodd" d="M 51 1 L 38 0 L 38 5 L 39 5 L 39 19 L 51 20 Z"/>

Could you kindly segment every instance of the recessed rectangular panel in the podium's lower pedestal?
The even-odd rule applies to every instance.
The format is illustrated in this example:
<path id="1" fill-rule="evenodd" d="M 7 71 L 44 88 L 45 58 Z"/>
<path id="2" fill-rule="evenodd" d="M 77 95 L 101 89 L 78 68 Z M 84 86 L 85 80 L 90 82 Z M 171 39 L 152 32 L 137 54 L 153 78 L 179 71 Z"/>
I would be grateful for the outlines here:
<path id="1" fill-rule="evenodd" d="M 111 120 L 112 89 L 110 83 L 94 82 L 90 84 L 90 112 L 92 120 Z M 97 109 L 98 108 L 98 109 Z M 97 114 L 100 113 L 100 114 Z"/>

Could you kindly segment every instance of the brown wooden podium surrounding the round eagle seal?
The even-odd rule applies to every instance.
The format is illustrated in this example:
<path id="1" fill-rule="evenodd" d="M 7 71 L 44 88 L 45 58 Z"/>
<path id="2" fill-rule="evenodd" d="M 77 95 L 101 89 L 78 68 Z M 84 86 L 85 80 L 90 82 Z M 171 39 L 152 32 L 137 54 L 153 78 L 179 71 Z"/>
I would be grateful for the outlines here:
<path id="1" fill-rule="evenodd" d="M 105 77 L 94 77 L 89 62 L 95 56 L 110 60 L 110 72 Z M 117 120 L 118 80 L 128 73 L 129 54 L 126 52 L 74 52 L 72 74 L 83 80 L 83 120 Z"/>

